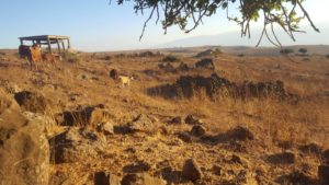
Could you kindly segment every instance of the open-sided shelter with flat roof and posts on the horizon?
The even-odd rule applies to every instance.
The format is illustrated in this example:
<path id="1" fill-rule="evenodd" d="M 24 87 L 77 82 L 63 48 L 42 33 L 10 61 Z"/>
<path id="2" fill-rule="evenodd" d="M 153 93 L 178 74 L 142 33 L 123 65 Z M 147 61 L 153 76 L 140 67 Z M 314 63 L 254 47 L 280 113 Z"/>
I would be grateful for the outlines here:
<path id="1" fill-rule="evenodd" d="M 19 37 L 21 45 L 30 42 L 31 45 L 38 44 L 41 47 L 46 48 L 50 54 L 65 55 L 71 49 L 70 37 L 60 35 L 38 35 Z M 55 45 L 55 46 L 54 46 Z"/>

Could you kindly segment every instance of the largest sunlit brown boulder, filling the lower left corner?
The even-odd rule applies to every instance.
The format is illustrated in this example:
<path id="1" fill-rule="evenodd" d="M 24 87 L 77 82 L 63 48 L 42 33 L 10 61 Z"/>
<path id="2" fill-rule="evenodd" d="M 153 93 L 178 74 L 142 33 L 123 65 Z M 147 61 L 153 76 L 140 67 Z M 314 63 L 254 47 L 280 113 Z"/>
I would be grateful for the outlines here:
<path id="1" fill-rule="evenodd" d="M 0 90 L 0 184 L 48 184 L 49 144 L 42 120 L 27 119 Z"/>

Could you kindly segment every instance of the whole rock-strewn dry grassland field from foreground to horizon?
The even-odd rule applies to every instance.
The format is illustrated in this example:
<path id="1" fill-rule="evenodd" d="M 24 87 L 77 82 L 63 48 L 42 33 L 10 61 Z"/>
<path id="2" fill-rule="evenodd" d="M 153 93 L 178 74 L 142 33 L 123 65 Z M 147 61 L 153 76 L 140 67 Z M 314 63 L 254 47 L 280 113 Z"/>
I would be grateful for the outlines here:
<path id="1" fill-rule="evenodd" d="M 11 136 L 33 132 L 12 141 L 33 157 L 16 165 L 45 165 L 31 184 L 328 180 L 326 55 L 235 55 L 211 47 L 77 53 L 31 70 L 16 53 L 0 55 L 0 119 L 31 124 L 18 129 L 20 136 L 0 130 L 0 148 Z M 42 155 L 48 160 L 38 161 Z M 0 155 L 0 165 L 10 159 Z M 5 182 L 1 172 L 0 178 Z"/>

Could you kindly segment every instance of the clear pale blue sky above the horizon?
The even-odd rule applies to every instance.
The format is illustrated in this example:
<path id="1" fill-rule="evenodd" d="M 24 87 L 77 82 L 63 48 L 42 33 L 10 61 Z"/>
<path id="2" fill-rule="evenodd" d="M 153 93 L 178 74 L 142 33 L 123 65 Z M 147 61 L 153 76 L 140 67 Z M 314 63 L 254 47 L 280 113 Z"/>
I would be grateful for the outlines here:
<path id="1" fill-rule="evenodd" d="M 0 48 L 16 48 L 18 37 L 43 34 L 71 36 L 75 48 L 89 51 L 152 48 L 175 39 L 239 31 L 224 14 L 205 19 L 190 34 L 171 27 L 163 35 L 161 25 L 151 20 L 139 42 L 148 14 L 136 15 L 132 2 L 120 7 L 115 2 L 110 5 L 109 0 L 1 0 Z M 329 1 L 307 0 L 305 7 L 316 23 L 329 23 Z M 321 44 L 329 44 L 329 39 Z"/>

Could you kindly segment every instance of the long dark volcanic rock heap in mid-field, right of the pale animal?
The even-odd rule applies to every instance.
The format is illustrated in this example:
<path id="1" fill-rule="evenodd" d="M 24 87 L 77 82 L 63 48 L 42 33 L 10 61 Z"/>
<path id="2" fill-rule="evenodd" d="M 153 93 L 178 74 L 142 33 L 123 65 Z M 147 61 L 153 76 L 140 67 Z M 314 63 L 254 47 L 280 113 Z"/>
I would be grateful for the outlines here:
<path id="1" fill-rule="evenodd" d="M 211 77 L 182 76 L 173 84 L 158 85 L 148 89 L 150 95 L 161 95 L 166 99 L 188 97 L 191 99 L 205 90 L 208 97 L 231 96 L 235 99 L 272 99 L 298 103 L 299 97 L 285 91 L 282 81 L 275 82 L 252 82 L 245 81 L 236 84 L 229 80 L 213 73 Z"/>

